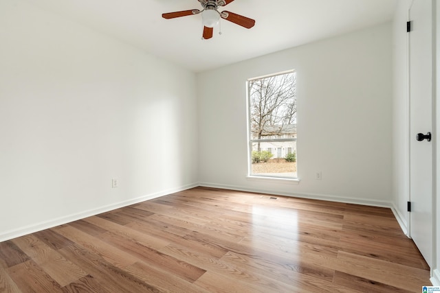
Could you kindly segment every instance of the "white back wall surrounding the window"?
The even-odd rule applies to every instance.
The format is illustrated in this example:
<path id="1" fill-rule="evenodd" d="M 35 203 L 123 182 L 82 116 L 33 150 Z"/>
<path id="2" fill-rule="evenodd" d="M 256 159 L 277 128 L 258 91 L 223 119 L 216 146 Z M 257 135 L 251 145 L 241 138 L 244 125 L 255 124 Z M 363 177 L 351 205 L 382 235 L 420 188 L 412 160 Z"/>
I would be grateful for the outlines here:
<path id="1" fill-rule="evenodd" d="M 390 204 L 391 36 L 386 23 L 197 74 L 201 185 Z M 289 69 L 300 183 L 248 180 L 245 82 Z"/>

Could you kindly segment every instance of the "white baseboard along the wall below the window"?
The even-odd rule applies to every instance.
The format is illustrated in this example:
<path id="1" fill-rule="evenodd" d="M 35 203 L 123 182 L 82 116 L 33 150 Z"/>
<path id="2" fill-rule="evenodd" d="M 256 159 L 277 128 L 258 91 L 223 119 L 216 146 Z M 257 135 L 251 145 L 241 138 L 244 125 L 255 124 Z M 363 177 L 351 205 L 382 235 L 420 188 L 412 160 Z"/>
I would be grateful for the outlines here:
<path id="1" fill-rule="evenodd" d="M 285 192 L 276 192 L 276 191 L 269 191 L 269 190 L 263 190 L 263 189 L 252 189 L 248 187 L 240 187 L 240 186 L 234 186 L 234 185 L 221 185 L 216 183 L 207 183 L 207 182 L 201 182 L 199 183 L 199 186 L 203 187 L 213 187 L 213 188 L 220 188 L 220 189 L 232 189 L 236 191 L 248 191 L 248 192 L 256 192 L 259 194 L 273 194 L 276 196 L 291 196 L 295 198 L 308 198 L 311 200 L 328 200 L 331 202 L 344 202 L 347 204 L 362 204 L 362 205 L 369 205 L 372 207 L 387 207 L 390 209 L 393 209 L 393 204 L 391 201 L 387 200 L 373 200 L 370 198 L 344 198 L 342 196 L 333 196 L 333 195 L 327 195 L 327 194 L 303 194 L 303 193 L 285 193 Z"/>

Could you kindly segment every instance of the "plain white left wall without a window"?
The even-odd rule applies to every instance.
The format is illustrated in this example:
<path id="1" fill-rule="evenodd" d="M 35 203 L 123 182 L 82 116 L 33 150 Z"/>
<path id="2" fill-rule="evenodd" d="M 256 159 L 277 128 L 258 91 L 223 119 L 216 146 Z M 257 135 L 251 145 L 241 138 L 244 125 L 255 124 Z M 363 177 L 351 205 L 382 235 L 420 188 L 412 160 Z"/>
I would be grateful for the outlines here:
<path id="1" fill-rule="evenodd" d="M 194 73 L 19 0 L 0 44 L 0 241 L 197 183 Z"/>

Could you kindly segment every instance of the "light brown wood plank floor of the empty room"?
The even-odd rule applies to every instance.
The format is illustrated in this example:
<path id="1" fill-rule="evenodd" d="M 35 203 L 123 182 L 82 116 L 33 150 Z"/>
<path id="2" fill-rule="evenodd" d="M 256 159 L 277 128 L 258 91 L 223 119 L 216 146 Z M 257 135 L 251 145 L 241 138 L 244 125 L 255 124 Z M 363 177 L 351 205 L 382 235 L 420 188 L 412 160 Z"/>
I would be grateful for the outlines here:
<path id="1" fill-rule="evenodd" d="M 421 292 L 390 209 L 197 187 L 0 243 L 0 292 Z"/>

